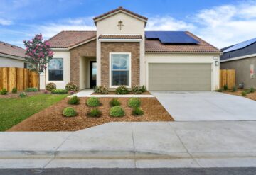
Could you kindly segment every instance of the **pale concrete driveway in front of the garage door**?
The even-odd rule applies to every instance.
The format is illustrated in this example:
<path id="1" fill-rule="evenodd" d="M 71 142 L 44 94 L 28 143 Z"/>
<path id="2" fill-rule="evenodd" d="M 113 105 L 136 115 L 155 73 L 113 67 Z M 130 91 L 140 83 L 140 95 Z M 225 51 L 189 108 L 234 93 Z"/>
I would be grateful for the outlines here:
<path id="1" fill-rule="evenodd" d="M 256 101 L 219 92 L 152 91 L 176 121 L 256 120 Z"/>

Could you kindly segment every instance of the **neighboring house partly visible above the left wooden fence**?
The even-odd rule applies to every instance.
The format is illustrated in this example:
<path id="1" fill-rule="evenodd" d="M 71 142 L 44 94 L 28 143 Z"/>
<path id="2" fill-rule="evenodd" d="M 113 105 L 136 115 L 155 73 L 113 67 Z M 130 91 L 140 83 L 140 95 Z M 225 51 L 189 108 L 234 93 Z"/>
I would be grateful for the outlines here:
<path id="1" fill-rule="evenodd" d="M 26 68 L 25 50 L 0 41 L 0 67 Z"/>

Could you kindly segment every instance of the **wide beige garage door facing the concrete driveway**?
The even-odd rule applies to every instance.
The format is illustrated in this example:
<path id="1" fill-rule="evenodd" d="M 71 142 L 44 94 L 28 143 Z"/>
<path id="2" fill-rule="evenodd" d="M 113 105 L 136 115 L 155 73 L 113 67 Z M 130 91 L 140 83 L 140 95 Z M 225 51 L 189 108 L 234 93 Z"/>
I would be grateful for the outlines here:
<path id="1" fill-rule="evenodd" d="M 210 91 L 211 64 L 149 64 L 150 91 Z"/>

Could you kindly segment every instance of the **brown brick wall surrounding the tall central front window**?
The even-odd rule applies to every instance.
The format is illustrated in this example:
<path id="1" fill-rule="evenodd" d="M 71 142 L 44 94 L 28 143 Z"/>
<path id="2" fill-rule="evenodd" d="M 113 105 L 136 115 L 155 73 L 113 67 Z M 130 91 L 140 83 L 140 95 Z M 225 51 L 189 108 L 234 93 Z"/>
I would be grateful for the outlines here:
<path id="1" fill-rule="evenodd" d="M 131 52 L 132 86 L 139 84 L 139 42 L 101 43 L 101 85 L 110 87 L 110 52 Z"/>

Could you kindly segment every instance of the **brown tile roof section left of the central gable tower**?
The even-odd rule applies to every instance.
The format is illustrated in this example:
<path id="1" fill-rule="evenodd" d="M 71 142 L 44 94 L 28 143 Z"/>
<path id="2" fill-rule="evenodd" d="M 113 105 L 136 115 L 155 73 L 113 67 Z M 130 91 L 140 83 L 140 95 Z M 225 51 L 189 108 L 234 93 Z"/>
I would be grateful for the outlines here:
<path id="1" fill-rule="evenodd" d="M 50 38 L 50 47 L 68 48 L 96 38 L 96 31 L 62 31 Z"/>

